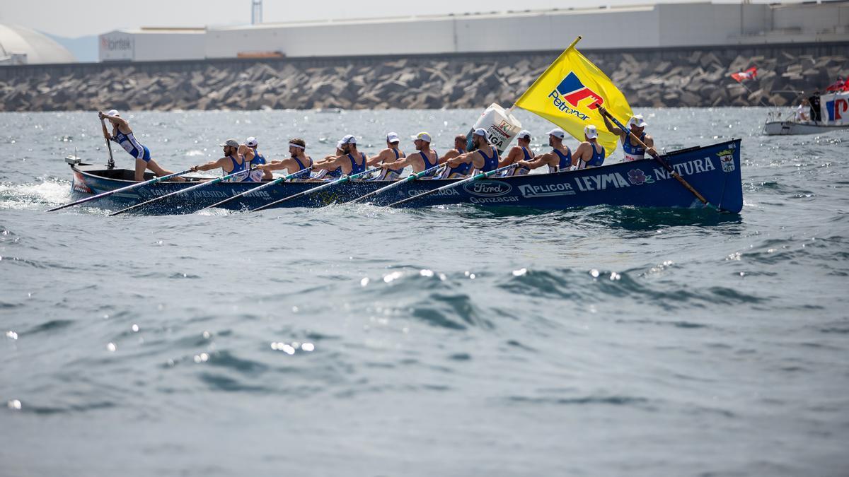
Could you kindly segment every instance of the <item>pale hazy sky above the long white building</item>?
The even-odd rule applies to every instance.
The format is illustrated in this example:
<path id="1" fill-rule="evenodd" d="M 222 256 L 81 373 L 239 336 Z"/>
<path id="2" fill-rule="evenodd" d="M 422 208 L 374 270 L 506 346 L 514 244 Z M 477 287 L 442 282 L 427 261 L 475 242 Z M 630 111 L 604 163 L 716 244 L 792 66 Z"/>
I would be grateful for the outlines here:
<path id="1" fill-rule="evenodd" d="M 681 0 L 678 0 L 681 1 Z M 769 0 L 756 0 L 766 3 Z M 661 2 L 670 3 L 668 0 Z M 262 20 L 327 20 L 410 16 L 413 14 L 462 14 L 464 12 L 507 11 L 658 3 L 655 0 L 427 0 L 425 2 L 370 2 L 319 0 L 290 2 L 264 0 Z M 715 3 L 739 3 L 724 0 Z M 462 5 L 462 6 L 458 6 Z M 413 9 L 416 8 L 416 9 Z M 99 35 L 106 31 L 141 26 L 205 26 L 250 23 L 250 0 L 0 0 L 0 23 L 24 25 L 57 36 Z"/>

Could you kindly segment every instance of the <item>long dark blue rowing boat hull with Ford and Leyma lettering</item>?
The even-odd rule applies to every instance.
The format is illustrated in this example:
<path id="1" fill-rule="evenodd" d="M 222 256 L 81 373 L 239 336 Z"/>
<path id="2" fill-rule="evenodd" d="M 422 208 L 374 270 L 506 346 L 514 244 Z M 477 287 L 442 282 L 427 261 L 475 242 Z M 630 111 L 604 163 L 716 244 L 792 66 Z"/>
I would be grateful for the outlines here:
<path id="1" fill-rule="evenodd" d="M 740 140 L 732 139 L 704 147 L 666 153 L 663 159 L 713 205 L 737 213 L 743 208 L 740 178 Z M 72 163 L 72 188 L 80 194 L 101 194 L 132 184 L 133 171 Z M 152 177 L 152 176 L 150 176 Z M 98 201 L 98 206 L 114 208 L 154 199 L 197 185 L 202 178 L 188 182 L 157 182 L 127 193 L 117 193 Z M 399 184 L 385 194 L 371 197 L 375 205 L 389 205 L 401 199 L 440 188 L 458 179 L 417 180 Z M 219 182 L 209 187 L 157 201 L 138 211 L 149 214 L 180 214 L 200 210 L 236 194 L 256 188 L 261 182 Z M 345 203 L 374 192 L 391 182 L 352 181 L 316 194 L 280 203 L 279 207 L 320 207 Z M 254 209 L 277 199 L 298 194 L 321 182 L 280 182 L 272 187 L 245 194 L 223 208 Z M 525 207 L 541 210 L 571 209 L 590 205 L 633 207 L 701 208 L 704 205 L 653 159 L 620 162 L 581 171 L 492 177 L 467 182 L 405 203 L 404 207 L 471 204 L 484 207 Z"/>

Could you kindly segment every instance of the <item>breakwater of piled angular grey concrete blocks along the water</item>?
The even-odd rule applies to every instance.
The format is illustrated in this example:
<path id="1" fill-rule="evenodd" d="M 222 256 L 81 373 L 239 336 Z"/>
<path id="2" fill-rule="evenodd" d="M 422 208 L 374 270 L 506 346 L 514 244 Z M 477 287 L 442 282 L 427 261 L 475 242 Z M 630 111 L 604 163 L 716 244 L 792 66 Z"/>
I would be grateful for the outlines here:
<path id="1" fill-rule="evenodd" d="M 849 74 L 846 44 L 584 52 L 635 107 L 787 105 Z M 8 66 L 0 110 L 509 106 L 559 52 Z M 732 72 L 758 67 L 745 87 Z M 19 68 L 22 70 L 13 70 Z"/>

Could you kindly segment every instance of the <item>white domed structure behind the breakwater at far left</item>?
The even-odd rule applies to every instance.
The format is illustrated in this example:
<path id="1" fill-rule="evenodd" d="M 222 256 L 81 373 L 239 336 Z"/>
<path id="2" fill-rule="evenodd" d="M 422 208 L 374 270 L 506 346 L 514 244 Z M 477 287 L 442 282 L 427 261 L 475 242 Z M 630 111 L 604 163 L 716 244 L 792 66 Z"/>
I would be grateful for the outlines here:
<path id="1" fill-rule="evenodd" d="M 0 65 L 75 61 L 67 48 L 42 33 L 19 25 L 0 25 Z"/>

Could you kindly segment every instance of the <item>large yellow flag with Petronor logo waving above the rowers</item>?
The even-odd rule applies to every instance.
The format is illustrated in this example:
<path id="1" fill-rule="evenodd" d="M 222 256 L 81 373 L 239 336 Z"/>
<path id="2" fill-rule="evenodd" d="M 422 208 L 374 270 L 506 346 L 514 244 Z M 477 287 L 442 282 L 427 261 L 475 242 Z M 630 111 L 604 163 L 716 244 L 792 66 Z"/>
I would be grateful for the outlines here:
<path id="1" fill-rule="evenodd" d="M 619 137 L 607 131 L 597 104 L 602 104 L 622 122 L 630 119 L 633 112 L 625 95 L 613 81 L 575 49 L 580 39 L 578 36 L 548 66 L 548 70 L 533 82 L 515 105 L 543 116 L 579 141 L 584 140 L 584 126 L 595 125 L 599 131 L 599 143 L 608 156 L 616 149 Z"/>

